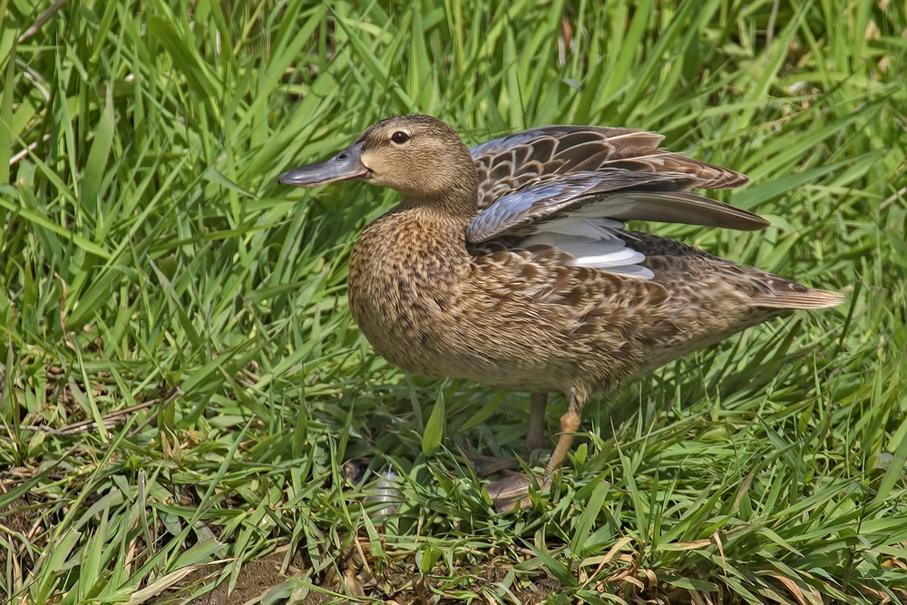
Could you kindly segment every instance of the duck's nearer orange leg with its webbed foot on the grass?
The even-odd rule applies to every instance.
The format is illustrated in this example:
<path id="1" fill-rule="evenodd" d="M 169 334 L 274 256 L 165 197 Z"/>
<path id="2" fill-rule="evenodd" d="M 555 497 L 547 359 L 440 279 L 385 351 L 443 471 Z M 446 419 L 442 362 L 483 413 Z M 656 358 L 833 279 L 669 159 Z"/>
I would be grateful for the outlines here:
<path id="1" fill-rule="evenodd" d="M 582 405 L 586 403 L 588 396 L 588 391 L 584 388 L 574 386 L 571 390 L 570 406 L 567 413 L 561 416 L 561 436 L 558 437 L 558 444 L 554 447 L 548 465 L 545 466 L 545 474 L 539 482 L 539 487 L 543 490 L 551 485 L 554 473 L 557 473 L 567 460 L 567 454 L 570 453 L 573 444 L 573 434 L 580 428 Z M 532 500 L 527 497 L 530 485 L 532 479 L 526 475 L 512 474 L 489 483 L 485 489 L 492 497 L 494 507 L 503 512 L 531 506 Z"/>

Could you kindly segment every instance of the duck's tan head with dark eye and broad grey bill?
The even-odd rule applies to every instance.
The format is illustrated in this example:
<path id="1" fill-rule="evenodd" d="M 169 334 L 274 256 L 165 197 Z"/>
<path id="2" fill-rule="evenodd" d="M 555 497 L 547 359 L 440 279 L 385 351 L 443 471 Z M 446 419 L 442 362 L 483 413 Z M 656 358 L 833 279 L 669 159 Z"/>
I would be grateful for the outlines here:
<path id="1" fill-rule="evenodd" d="M 278 179 L 297 187 L 337 181 L 367 181 L 416 199 L 469 191 L 474 200 L 478 190 L 473 158 L 460 135 L 429 115 L 376 122 L 330 160 L 284 172 Z"/>

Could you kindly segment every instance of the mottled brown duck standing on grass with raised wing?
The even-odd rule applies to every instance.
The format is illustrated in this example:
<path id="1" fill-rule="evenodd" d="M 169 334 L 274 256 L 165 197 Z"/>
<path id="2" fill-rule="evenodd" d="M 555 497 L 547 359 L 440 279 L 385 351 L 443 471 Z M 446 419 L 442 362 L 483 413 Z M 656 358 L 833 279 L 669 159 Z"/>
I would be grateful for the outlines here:
<path id="1" fill-rule="evenodd" d="M 844 295 L 713 256 L 628 221 L 756 231 L 757 214 L 693 190 L 743 174 L 661 149 L 654 132 L 545 126 L 467 148 L 428 115 L 387 118 L 278 182 L 366 181 L 402 194 L 349 256 L 356 325 L 387 361 L 530 394 L 528 451 L 548 394 L 568 401 L 541 478 L 485 485 L 498 511 L 532 505 L 571 451 L 583 405 L 679 356 Z"/>

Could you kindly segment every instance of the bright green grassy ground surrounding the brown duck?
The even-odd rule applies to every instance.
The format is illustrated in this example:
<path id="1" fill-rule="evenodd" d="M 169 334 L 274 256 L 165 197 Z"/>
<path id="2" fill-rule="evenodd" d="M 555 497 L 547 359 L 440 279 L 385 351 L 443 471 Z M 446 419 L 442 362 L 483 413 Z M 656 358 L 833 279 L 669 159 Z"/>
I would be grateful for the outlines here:
<path id="1" fill-rule="evenodd" d="M 0 597 L 907 600 L 904 4 L 505 4 L 0 0 Z M 773 227 L 659 233 L 852 294 L 590 405 L 494 514 L 462 454 L 520 450 L 528 397 L 404 376 L 347 310 L 395 194 L 277 185 L 413 111 L 662 132 Z"/>

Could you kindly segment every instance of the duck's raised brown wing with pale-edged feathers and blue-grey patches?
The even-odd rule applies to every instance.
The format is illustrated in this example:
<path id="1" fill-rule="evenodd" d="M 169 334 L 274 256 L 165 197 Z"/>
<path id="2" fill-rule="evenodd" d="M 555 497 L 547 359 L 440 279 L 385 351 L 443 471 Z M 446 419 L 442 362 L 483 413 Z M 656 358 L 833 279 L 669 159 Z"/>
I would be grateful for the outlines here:
<path id="1" fill-rule="evenodd" d="M 629 129 L 547 126 L 474 146 L 480 212 L 466 238 L 480 243 L 540 232 L 601 235 L 622 220 L 739 230 L 768 226 L 752 212 L 689 191 L 730 189 L 747 179 L 659 150 L 663 138 Z"/>

